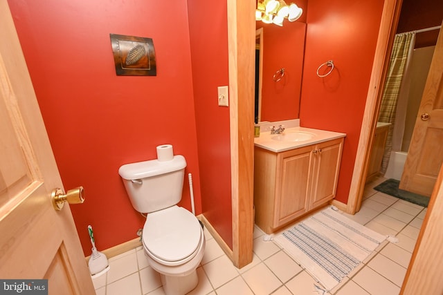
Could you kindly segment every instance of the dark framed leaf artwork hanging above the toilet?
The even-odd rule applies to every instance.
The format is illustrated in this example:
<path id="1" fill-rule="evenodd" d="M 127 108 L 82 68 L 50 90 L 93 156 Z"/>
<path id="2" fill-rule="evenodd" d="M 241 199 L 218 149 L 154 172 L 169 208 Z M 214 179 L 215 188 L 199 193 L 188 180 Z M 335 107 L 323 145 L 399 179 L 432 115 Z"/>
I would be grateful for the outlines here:
<path id="1" fill-rule="evenodd" d="M 156 76 L 154 43 L 151 38 L 110 34 L 118 76 Z"/>

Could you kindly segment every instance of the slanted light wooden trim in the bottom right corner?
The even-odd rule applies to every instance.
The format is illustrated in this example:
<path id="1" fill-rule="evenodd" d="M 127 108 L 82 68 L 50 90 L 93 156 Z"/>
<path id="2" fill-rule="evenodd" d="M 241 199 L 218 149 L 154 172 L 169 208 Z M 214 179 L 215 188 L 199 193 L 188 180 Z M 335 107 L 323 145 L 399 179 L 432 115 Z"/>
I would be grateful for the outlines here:
<path id="1" fill-rule="evenodd" d="M 443 165 L 400 294 L 443 294 Z"/>

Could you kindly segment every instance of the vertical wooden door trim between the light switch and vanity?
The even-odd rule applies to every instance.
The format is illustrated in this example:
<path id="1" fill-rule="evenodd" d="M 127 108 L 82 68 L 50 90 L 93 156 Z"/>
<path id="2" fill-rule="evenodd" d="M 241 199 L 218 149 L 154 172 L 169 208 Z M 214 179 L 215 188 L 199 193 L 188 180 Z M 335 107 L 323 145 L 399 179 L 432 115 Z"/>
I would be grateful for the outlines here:
<path id="1" fill-rule="evenodd" d="M 228 0 L 227 8 L 233 210 L 231 260 L 241 268 L 251 263 L 253 258 L 255 1 Z"/>

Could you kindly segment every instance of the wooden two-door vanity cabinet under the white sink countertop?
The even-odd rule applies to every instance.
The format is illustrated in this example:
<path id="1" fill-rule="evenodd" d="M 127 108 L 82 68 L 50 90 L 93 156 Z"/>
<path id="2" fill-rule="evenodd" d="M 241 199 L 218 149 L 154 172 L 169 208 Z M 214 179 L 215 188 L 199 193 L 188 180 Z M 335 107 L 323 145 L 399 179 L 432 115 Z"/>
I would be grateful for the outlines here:
<path id="1" fill-rule="evenodd" d="M 343 138 L 274 153 L 255 146 L 255 224 L 266 234 L 334 198 Z"/>

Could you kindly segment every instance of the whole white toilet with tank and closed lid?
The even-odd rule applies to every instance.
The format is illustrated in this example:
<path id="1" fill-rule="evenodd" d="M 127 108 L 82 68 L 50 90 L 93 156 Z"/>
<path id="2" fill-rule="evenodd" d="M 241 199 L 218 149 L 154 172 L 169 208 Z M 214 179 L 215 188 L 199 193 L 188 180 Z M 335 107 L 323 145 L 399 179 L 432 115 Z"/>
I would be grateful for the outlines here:
<path id="1" fill-rule="evenodd" d="M 150 266 L 160 273 L 168 295 L 181 295 L 197 286 L 196 269 L 205 249 L 199 220 L 178 207 L 186 160 L 150 160 L 125 164 L 118 169 L 132 206 L 148 213 L 143 227 L 143 248 Z"/>

